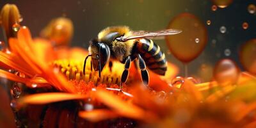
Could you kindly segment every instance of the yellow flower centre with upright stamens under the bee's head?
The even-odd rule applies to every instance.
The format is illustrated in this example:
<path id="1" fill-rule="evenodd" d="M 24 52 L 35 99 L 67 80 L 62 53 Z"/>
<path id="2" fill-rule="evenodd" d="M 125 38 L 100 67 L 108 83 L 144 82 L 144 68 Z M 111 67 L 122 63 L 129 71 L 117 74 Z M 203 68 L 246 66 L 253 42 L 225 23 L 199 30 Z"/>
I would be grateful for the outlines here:
<path id="1" fill-rule="evenodd" d="M 89 62 L 90 59 L 86 63 L 85 75 L 83 74 L 83 61 L 56 60 L 53 62 L 53 65 L 59 68 L 69 80 L 84 81 L 85 83 L 93 82 L 95 84 L 120 84 L 120 78 L 122 76 L 120 67 L 124 67 L 122 63 L 114 61 L 112 72 L 108 64 L 105 65 L 101 72 L 101 77 L 99 77 L 99 72 L 95 72 L 93 69 L 91 70 Z"/>

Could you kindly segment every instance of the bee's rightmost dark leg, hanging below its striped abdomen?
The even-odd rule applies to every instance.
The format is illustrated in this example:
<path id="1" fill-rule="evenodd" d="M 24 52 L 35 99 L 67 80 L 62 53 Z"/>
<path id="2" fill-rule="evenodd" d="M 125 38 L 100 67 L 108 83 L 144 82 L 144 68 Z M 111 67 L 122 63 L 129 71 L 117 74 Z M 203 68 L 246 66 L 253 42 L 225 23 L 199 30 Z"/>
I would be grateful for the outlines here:
<path id="1" fill-rule="evenodd" d="M 143 81 L 143 84 L 145 86 L 148 86 L 148 71 L 146 69 L 146 64 L 143 58 L 141 58 L 140 54 L 138 54 L 138 59 L 139 59 L 139 66 L 140 66 L 140 71 L 141 71 L 141 78 Z"/>

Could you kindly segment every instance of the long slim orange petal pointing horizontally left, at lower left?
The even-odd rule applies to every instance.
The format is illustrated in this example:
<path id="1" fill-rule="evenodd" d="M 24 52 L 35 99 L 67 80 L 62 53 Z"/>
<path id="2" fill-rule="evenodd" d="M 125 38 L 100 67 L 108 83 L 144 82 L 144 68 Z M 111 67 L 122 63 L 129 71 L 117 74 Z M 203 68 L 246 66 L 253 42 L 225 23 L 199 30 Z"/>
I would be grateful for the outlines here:
<path id="1" fill-rule="evenodd" d="M 38 93 L 22 97 L 20 104 L 49 104 L 52 102 L 60 102 L 64 100 L 85 99 L 86 95 L 78 95 L 72 93 Z"/>

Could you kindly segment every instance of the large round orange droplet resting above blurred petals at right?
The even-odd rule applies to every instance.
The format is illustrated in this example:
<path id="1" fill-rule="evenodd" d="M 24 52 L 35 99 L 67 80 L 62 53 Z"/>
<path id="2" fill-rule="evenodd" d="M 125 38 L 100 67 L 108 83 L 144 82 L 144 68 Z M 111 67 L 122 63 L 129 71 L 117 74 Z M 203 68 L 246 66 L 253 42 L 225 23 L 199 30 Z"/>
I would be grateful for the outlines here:
<path id="1" fill-rule="evenodd" d="M 218 61 L 214 68 L 214 78 L 221 86 L 236 84 L 239 77 L 239 68 L 229 59 Z"/>

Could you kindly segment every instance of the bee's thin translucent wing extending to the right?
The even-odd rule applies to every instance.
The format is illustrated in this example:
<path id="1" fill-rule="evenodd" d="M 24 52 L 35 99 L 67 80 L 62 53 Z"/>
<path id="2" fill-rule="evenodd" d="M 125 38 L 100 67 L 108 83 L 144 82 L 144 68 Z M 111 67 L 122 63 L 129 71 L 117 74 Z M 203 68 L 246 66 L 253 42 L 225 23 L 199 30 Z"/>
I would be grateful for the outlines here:
<path id="1" fill-rule="evenodd" d="M 182 31 L 179 29 L 164 29 L 161 31 L 132 31 L 132 35 L 121 36 L 116 38 L 120 42 L 125 42 L 127 40 L 132 40 L 136 38 L 153 38 L 162 39 L 164 36 L 179 34 Z"/>

